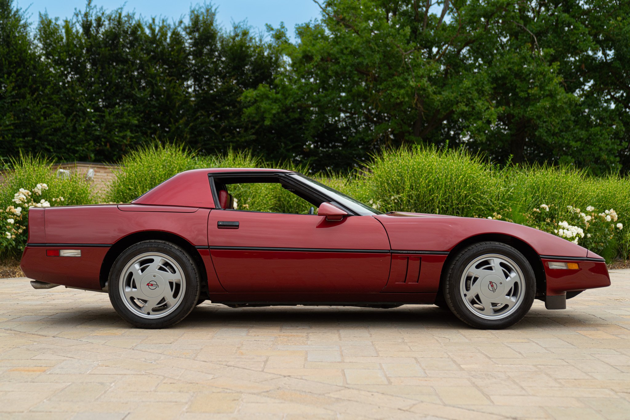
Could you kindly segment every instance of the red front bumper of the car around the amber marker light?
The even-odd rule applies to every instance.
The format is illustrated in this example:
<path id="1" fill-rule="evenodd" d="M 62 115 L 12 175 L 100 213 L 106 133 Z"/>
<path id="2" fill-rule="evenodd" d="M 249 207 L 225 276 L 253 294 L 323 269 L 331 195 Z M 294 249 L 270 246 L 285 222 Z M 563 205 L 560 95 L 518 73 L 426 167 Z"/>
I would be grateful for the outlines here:
<path id="1" fill-rule="evenodd" d="M 566 295 L 570 290 L 587 290 L 610 286 L 610 276 L 603 259 L 541 256 L 547 278 L 547 296 Z M 578 263 L 578 270 L 549 268 L 549 262 Z"/>

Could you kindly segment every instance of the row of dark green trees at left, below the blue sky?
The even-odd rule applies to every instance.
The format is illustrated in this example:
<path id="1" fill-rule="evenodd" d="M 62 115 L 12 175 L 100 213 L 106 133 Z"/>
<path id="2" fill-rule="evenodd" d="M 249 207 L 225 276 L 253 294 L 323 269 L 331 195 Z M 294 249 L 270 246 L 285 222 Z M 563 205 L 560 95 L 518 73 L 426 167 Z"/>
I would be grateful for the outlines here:
<path id="1" fill-rule="evenodd" d="M 239 99 L 273 80 L 280 56 L 247 25 L 224 30 L 210 4 L 192 8 L 187 22 L 169 22 L 89 0 L 64 20 L 40 14 L 31 33 L 12 2 L 1 1 L 12 23 L 0 30 L 8 39 L 0 127 L 13 137 L 1 134 L 0 156 L 23 148 L 117 161 L 158 140 L 208 153 L 252 147 Z"/>

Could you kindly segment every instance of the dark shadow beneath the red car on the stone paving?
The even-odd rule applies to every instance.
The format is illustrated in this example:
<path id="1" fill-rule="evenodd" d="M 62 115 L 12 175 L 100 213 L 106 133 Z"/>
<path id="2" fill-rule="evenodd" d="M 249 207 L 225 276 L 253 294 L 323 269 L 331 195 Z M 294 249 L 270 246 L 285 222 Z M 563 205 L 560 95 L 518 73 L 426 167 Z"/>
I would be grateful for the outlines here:
<path id="1" fill-rule="evenodd" d="M 591 314 L 571 311 L 561 314 L 544 308 L 532 307 L 525 318 L 511 330 L 553 328 L 575 329 L 602 324 L 602 319 Z M 35 322 L 54 324 L 55 327 L 133 327 L 123 321 L 110 307 L 95 307 L 87 312 L 64 312 L 62 316 L 45 317 Z M 449 310 L 433 305 L 404 305 L 392 309 L 336 306 L 274 306 L 229 308 L 223 305 L 202 304 L 172 329 L 282 327 L 331 329 L 392 327 L 401 329 L 472 329 L 459 321 Z"/>

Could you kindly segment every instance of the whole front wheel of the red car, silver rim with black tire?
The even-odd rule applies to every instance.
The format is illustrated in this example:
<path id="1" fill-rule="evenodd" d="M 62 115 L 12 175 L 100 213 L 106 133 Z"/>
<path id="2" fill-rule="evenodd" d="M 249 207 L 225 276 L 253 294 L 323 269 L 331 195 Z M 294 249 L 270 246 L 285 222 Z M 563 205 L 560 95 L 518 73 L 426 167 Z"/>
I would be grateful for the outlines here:
<path id="1" fill-rule="evenodd" d="M 444 300 L 470 326 L 501 329 L 523 319 L 534 303 L 536 276 L 517 249 L 501 242 L 479 242 L 450 264 Z"/>

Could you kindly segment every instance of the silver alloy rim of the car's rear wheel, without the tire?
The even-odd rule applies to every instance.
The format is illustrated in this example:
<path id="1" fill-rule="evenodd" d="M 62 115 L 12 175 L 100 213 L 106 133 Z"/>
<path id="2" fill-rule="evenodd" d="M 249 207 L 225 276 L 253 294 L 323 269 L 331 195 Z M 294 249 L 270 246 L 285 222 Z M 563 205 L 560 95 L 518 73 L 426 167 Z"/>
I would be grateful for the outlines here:
<path id="1" fill-rule="evenodd" d="M 181 304 L 186 278 L 180 264 L 168 255 L 144 253 L 123 268 L 118 290 L 125 306 L 135 315 L 161 318 Z"/>

